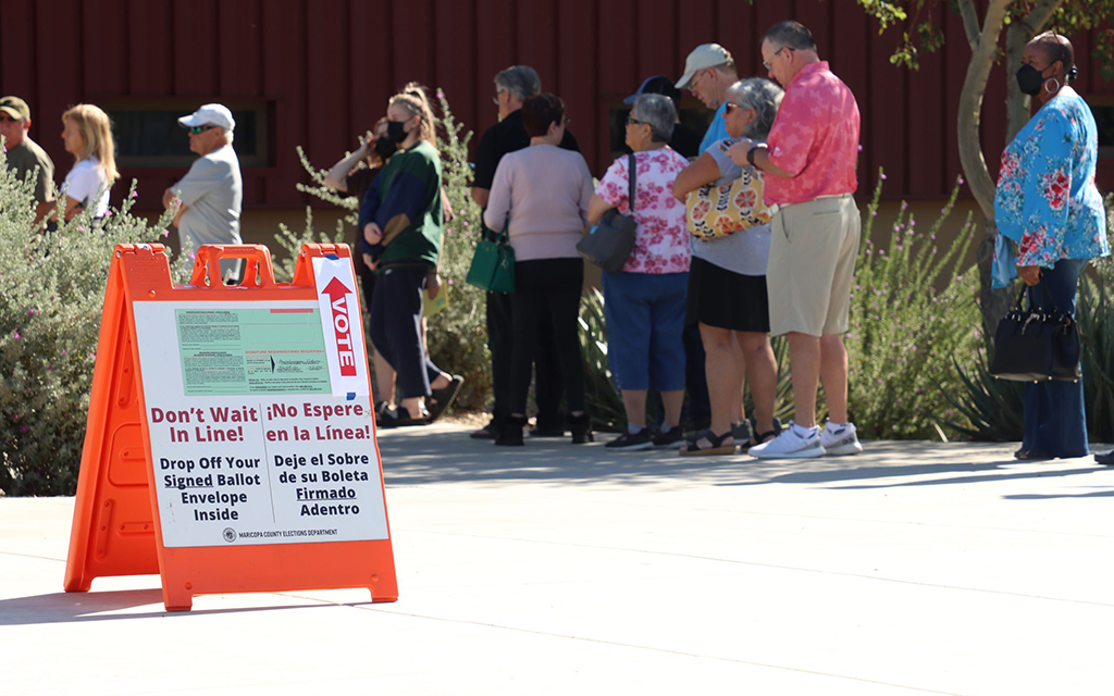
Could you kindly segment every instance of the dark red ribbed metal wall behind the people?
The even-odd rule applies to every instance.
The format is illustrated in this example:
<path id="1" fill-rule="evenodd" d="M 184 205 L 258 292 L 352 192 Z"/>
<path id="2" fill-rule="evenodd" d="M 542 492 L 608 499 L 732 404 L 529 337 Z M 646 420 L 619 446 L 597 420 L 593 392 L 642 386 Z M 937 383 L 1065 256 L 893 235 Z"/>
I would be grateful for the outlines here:
<path id="1" fill-rule="evenodd" d="M 794 18 L 854 91 L 862 110 L 860 192 L 879 166 L 889 197 L 939 197 L 959 174 L 955 114 L 969 50 L 957 16 L 937 9 L 946 50 L 919 72 L 890 65 L 898 32 L 851 0 L 3 0 L 0 94 L 32 109 L 31 137 L 65 176 L 59 116 L 70 104 L 120 97 L 273 101 L 272 166 L 244 171 L 247 207 L 307 199 L 294 147 L 326 167 L 385 110 L 408 80 L 444 89 L 458 119 L 477 134 L 496 120 L 491 77 L 534 66 L 568 105 L 592 169 L 608 163 L 607 110 L 651 75 L 678 77 L 688 50 L 716 41 L 740 76 L 761 73 L 759 39 Z M 1075 38 L 1078 90 L 1114 95 Z M 991 75 L 983 137 L 991 171 L 1004 146 L 1004 66 Z M 477 136 L 478 138 L 478 136 Z M 1114 187 L 1105 160 L 1100 184 Z M 140 207 L 158 206 L 180 170 L 126 169 Z M 125 187 L 118 186 L 117 189 Z M 116 192 L 117 196 L 120 192 Z"/>

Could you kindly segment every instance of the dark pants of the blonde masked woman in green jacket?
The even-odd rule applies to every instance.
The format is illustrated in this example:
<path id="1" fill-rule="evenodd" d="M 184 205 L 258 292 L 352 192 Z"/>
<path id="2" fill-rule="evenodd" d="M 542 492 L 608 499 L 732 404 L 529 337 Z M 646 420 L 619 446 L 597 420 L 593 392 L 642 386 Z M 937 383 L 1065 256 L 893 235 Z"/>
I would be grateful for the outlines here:
<path id="1" fill-rule="evenodd" d="M 371 300 L 371 343 L 399 374 L 403 399 L 430 396 L 429 383 L 441 370 L 421 342 L 422 293 L 427 266 L 383 269 Z"/>

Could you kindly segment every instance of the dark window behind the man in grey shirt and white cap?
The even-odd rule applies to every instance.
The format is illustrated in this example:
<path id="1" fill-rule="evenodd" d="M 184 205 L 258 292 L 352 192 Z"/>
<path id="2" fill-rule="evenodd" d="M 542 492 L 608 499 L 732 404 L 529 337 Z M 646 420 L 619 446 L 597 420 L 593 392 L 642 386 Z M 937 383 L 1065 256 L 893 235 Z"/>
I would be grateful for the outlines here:
<path id="1" fill-rule="evenodd" d="M 179 104 L 180 101 L 180 104 Z M 104 102 L 101 102 L 104 104 Z M 117 163 L 120 167 L 182 168 L 193 164 L 189 136 L 178 125 L 178 118 L 201 106 L 196 100 L 117 100 L 104 104 L 113 119 Z M 225 102 L 236 120 L 232 143 L 243 167 L 266 167 L 270 124 L 265 101 Z"/>

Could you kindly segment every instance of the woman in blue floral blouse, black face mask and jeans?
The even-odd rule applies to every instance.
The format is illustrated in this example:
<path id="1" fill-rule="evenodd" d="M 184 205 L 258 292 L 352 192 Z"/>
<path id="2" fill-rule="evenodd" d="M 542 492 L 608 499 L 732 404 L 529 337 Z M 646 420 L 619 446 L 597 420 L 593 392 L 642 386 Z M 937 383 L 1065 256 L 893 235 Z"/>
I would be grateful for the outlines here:
<path id="1" fill-rule="evenodd" d="M 994 199 L 998 232 L 1017 244 L 1017 275 L 1033 300 L 1075 314 L 1079 275 L 1106 256 L 1106 214 L 1095 187 L 1098 135 L 1091 108 L 1068 85 L 1075 51 L 1045 32 L 1025 47 L 1017 85 L 1040 108 L 1001 154 Z M 1083 382 L 1025 388 L 1025 437 L 1018 459 L 1087 454 Z"/>

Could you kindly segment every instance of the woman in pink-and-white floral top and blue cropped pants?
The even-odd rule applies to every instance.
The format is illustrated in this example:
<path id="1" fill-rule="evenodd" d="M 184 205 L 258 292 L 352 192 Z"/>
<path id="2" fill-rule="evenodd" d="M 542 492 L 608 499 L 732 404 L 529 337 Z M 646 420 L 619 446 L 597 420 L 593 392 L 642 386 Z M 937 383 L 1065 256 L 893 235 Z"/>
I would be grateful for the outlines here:
<path id="1" fill-rule="evenodd" d="M 668 97 L 641 95 L 631 109 L 626 144 L 634 150 L 634 251 L 619 273 L 604 272 L 604 313 L 608 361 L 623 392 L 627 432 L 606 447 L 644 450 L 681 440 L 678 423 L 685 394 L 682 341 L 688 286 L 688 231 L 685 206 L 673 197 L 673 182 L 688 160 L 668 147 L 676 109 Z M 631 214 L 629 157 L 612 163 L 588 205 L 588 220 L 618 208 Z M 646 428 L 646 392 L 655 389 L 665 404 L 662 432 Z"/>

